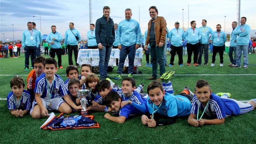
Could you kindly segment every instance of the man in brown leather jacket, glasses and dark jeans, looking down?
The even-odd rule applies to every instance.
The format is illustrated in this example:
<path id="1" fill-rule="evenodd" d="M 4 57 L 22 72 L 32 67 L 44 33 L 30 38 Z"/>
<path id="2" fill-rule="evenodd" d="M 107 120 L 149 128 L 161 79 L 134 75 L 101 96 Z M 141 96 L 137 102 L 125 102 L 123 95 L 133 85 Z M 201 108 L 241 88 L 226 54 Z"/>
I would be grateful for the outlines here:
<path id="1" fill-rule="evenodd" d="M 156 6 L 149 8 L 149 15 L 152 19 L 148 22 L 147 39 L 144 49 L 147 50 L 150 44 L 150 55 L 152 58 L 152 77 L 148 80 L 157 79 L 157 65 L 160 65 L 160 76 L 165 73 L 165 65 L 163 61 L 164 44 L 166 41 L 166 21 L 163 17 L 159 17 Z"/>

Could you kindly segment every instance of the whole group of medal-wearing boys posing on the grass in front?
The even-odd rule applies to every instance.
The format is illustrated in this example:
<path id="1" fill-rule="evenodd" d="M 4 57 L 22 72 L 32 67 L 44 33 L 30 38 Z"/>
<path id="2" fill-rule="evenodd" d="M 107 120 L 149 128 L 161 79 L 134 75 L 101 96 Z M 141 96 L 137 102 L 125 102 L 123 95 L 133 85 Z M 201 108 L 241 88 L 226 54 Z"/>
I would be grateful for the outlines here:
<path id="1" fill-rule="evenodd" d="M 181 93 L 174 95 L 170 81 L 174 71 L 164 73 L 161 82 L 152 81 L 147 93 L 143 93 L 143 83 L 136 87 L 131 77 L 122 80 L 121 88 L 108 78 L 99 81 L 88 64 L 81 65 L 80 75 L 77 66 L 69 65 L 65 82 L 57 71 L 54 58 L 38 56 L 27 78 L 27 90 L 22 77 L 11 79 L 12 91 L 7 95 L 11 115 L 23 117 L 30 113 L 32 118 L 40 119 L 49 116 L 48 111 L 66 114 L 80 111 L 83 108 L 77 93 L 79 89 L 91 90 L 86 97 L 88 111 L 107 112 L 104 118 L 118 123 L 125 122 L 129 115 L 140 115 L 141 122 L 148 127 L 170 125 L 180 117 L 188 117 L 188 123 L 194 127 L 222 124 L 226 117 L 247 113 L 256 107 L 256 99 L 242 103 L 230 99 L 230 93 L 212 93 L 206 80 L 196 82 L 195 94 L 185 86 Z M 211 119 L 199 118 L 199 109 Z"/>

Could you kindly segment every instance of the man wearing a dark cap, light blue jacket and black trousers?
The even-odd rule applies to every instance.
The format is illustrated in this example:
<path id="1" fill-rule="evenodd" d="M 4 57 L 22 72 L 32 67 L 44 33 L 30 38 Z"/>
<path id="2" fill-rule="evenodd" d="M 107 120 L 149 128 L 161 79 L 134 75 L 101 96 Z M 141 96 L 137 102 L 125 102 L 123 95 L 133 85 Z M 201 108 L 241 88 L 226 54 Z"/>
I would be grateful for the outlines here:
<path id="1" fill-rule="evenodd" d="M 174 57 L 176 55 L 176 52 L 179 56 L 179 66 L 183 66 L 183 58 L 182 58 L 182 40 L 185 39 L 185 33 L 184 30 L 179 28 L 179 22 L 175 22 L 174 24 L 175 28 L 170 30 L 169 32 L 169 40 L 171 40 L 171 59 L 169 67 L 172 67 L 174 65 Z"/>

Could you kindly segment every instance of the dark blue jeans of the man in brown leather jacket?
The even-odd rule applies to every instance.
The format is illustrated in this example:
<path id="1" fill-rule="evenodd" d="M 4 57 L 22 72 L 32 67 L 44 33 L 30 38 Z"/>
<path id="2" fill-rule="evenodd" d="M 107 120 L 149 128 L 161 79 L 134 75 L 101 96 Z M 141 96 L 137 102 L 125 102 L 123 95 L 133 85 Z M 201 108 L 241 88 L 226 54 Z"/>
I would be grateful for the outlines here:
<path id="1" fill-rule="evenodd" d="M 160 76 L 165 73 L 165 65 L 163 60 L 164 45 L 157 47 L 156 42 L 150 42 L 150 55 L 152 58 L 152 77 L 157 78 L 157 67 L 159 63 Z"/>

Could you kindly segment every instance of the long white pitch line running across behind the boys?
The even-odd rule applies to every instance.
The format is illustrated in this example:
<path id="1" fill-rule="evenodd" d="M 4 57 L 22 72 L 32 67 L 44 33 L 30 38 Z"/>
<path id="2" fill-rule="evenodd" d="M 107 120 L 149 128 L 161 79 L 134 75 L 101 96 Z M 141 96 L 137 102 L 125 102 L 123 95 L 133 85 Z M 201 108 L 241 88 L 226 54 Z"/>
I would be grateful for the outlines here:
<path id="1" fill-rule="evenodd" d="M 128 74 L 123 74 L 128 75 Z M 134 76 L 151 76 L 152 74 L 133 74 Z M 174 74 L 175 76 L 255 76 L 256 74 Z M 0 74 L 0 76 L 16 76 L 13 74 Z M 20 74 L 18 76 L 27 76 L 26 74 Z M 60 74 L 59 76 L 66 76 Z M 97 74 L 97 76 L 100 76 Z M 116 74 L 109 74 L 109 76 L 116 76 Z"/>

